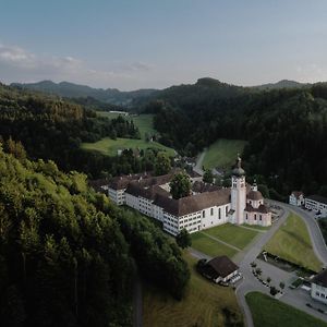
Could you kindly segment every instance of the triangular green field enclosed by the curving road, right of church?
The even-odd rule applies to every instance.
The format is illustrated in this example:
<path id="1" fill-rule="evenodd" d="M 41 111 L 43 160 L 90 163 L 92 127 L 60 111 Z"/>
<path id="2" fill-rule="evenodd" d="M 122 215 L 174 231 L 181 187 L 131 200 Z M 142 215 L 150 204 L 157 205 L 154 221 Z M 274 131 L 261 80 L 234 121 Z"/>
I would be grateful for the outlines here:
<path id="1" fill-rule="evenodd" d="M 290 214 L 264 250 L 314 271 L 322 269 L 322 263 L 313 251 L 305 222 L 294 214 Z"/>

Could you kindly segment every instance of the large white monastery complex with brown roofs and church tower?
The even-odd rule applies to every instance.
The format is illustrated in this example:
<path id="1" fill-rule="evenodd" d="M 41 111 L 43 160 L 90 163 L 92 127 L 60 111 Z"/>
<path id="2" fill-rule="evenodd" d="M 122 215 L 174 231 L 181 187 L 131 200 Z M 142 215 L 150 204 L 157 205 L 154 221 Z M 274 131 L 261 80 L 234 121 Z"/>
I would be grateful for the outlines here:
<path id="1" fill-rule="evenodd" d="M 164 230 L 177 235 L 182 229 L 190 233 L 231 222 L 271 225 L 271 213 L 264 204 L 257 186 L 245 183 L 245 171 L 238 158 L 232 170 L 231 187 L 204 184 L 191 178 L 192 195 L 174 199 L 169 193 L 173 173 L 159 177 L 136 174 L 119 177 L 109 183 L 109 197 L 162 222 Z"/>

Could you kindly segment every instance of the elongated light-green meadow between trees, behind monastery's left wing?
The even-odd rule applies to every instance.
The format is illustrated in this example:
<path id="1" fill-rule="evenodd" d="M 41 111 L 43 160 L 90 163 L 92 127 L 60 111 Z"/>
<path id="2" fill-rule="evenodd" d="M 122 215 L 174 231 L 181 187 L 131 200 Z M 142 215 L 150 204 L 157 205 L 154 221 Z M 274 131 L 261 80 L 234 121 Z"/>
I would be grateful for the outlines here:
<path id="1" fill-rule="evenodd" d="M 153 148 L 162 152 L 167 152 L 169 156 L 174 156 L 174 150 L 157 142 L 146 142 L 144 140 L 133 140 L 133 138 L 117 138 L 112 140 L 105 137 L 95 143 L 82 143 L 82 148 L 86 150 L 97 150 L 106 156 L 116 156 L 117 150 L 124 148 Z"/>

